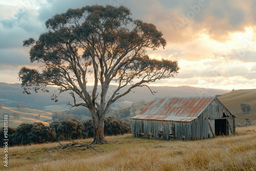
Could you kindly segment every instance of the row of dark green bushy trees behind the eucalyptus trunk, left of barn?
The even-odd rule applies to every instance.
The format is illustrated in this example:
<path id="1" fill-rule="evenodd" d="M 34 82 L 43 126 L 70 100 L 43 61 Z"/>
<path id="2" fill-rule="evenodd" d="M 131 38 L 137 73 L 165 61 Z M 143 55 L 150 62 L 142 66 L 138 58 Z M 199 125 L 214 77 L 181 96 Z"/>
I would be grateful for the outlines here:
<path id="1" fill-rule="evenodd" d="M 108 117 L 104 119 L 104 134 L 107 136 L 131 133 L 131 125 L 120 118 Z M 4 128 L 0 128 L 4 135 Z M 38 144 L 64 140 L 92 138 L 94 128 L 92 120 L 78 121 L 76 119 L 55 120 L 49 126 L 41 122 L 33 124 L 22 123 L 16 129 L 8 127 L 9 146 Z M 4 136 L 0 137 L 3 147 Z"/>

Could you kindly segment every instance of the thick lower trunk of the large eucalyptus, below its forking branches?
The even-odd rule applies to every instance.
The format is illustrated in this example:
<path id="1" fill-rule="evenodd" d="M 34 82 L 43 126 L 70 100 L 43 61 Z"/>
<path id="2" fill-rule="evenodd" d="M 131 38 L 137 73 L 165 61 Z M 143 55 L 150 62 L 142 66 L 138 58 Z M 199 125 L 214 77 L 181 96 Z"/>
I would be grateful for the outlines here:
<path id="1" fill-rule="evenodd" d="M 104 119 L 96 119 L 94 124 L 94 139 L 92 144 L 106 144 L 104 137 Z"/>

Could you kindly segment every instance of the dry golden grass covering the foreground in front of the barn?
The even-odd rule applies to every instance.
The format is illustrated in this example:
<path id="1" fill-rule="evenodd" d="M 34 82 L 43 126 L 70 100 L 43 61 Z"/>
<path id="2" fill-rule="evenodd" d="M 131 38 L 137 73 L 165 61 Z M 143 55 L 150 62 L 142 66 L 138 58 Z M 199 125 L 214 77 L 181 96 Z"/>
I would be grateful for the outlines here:
<path id="1" fill-rule="evenodd" d="M 198 141 L 106 137 L 93 149 L 58 149 L 58 143 L 9 147 L 8 168 L 1 170 L 256 170 L 256 126 L 239 127 L 237 135 Z M 79 140 L 90 143 L 92 139 Z M 0 156 L 4 156 L 2 148 Z"/>

